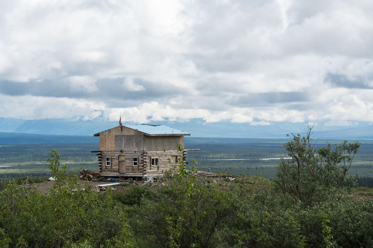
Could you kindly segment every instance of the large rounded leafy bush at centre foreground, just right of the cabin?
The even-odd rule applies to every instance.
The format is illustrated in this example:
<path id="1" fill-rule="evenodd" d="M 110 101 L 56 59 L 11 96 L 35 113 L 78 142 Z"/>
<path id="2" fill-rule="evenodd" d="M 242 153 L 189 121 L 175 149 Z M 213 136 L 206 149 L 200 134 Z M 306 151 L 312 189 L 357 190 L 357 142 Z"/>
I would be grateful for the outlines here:
<path id="1" fill-rule="evenodd" d="M 219 183 L 205 183 L 184 171 L 164 187 L 149 189 L 131 225 L 148 245 L 213 247 L 214 233 L 234 213 L 236 201 Z"/>

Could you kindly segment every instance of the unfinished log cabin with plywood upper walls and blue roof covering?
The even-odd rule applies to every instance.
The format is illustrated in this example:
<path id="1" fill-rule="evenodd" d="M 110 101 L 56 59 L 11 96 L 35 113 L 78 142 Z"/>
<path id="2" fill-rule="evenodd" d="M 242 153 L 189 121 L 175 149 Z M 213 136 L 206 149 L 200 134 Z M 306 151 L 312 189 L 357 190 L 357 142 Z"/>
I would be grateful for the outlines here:
<path id="1" fill-rule="evenodd" d="M 164 125 L 123 125 L 94 134 L 100 137 L 98 167 L 101 176 L 138 177 L 162 176 L 165 170 L 178 165 L 178 158 L 186 161 L 184 131 Z"/>

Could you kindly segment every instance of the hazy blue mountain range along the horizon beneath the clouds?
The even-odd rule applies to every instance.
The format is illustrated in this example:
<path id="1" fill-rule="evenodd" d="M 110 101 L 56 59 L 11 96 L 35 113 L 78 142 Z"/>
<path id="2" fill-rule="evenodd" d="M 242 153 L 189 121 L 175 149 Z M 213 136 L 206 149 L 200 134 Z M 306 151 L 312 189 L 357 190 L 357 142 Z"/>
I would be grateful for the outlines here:
<path id="1" fill-rule="evenodd" d="M 134 124 L 125 123 L 123 125 Z M 140 124 L 140 123 L 139 123 Z M 248 123 L 215 122 L 204 123 L 201 119 L 189 122 L 156 122 L 191 133 L 192 137 L 222 138 L 286 138 L 286 134 L 304 134 L 305 123 L 273 122 L 266 126 L 250 126 Z M 118 122 L 95 120 L 41 119 L 24 120 L 0 118 L 0 132 L 29 133 L 42 135 L 79 135 L 93 136 L 115 126 Z M 327 129 L 330 130 L 327 130 Z M 325 127 L 315 126 L 313 136 L 320 139 L 373 139 L 373 125 L 360 123 L 356 126 Z M 0 137 L 2 139 L 2 137 Z M 2 143 L 0 141 L 0 143 Z"/>

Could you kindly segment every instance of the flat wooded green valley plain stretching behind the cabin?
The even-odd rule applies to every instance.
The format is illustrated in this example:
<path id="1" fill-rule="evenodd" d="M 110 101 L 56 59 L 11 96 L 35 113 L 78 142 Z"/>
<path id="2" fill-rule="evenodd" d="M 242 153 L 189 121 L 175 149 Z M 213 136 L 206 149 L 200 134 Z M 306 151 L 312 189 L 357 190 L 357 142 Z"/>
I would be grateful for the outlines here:
<path id="1" fill-rule="evenodd" d="M 79 140 L 72 136 L 73 140 Z M 98 138 L 98 137 L 93 137 Z M 72 142 L 71 141 L 71 142 Z M 83 141 L 83 140 L 81 140 Z M 280 145 L 289 139 L 231 139 L 231 138 L 186 138 L 185 148 L 200 148 L 187 154 L 188 168 L 193 159 L 198 160 L 196 168 L 202 171 L 230 173 L 233 175 L 267 175 L 276 176 L 279 156 L 284 155 Z M 340 141 L 333 141 L 339 143 Z M 359 185 L 373 187 L 373 141 L 361 141 L 358 154 L 349 170 L 350 174 L 359 173 Z M 316 148 L 326 145 L 318 140 Z M 68 166 L 68 171 L 88 168 L 98 170 L 98 143 L 44 143 L 44 144 L 8 144 L 0 145 L 0 177 L 50 177 L 46 159 L 51 149 L 62 154 L 61 161 Z M 277 158 L 266 160 L 267 158 Z M 233 160 L 235 159 L 235 160 Z M 3 167 L 5 166 L 5 167 Z M 365 178 L 364 178 L 365 177 Z"/>

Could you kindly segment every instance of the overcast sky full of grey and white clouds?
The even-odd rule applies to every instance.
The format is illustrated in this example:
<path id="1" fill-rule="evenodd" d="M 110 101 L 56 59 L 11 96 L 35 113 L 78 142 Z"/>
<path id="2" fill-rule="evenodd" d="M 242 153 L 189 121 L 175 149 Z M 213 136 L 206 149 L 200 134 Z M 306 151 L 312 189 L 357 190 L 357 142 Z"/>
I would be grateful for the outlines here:
<path id="1" fill-rule="evenodd" d="M 373 1 L 0 2 L 0 116 L 373 122 Z"/>

